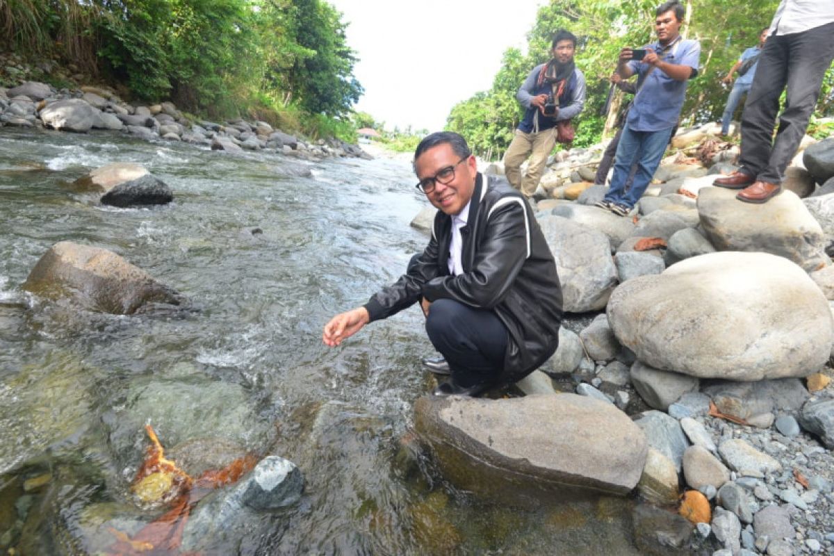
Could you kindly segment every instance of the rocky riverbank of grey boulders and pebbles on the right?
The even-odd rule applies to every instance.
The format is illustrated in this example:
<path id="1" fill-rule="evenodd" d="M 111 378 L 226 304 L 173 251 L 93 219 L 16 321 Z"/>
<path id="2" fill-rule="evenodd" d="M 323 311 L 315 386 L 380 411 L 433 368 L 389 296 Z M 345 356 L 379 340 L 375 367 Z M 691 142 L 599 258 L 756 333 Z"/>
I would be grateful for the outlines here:
<path id="1" fill-rule="evenodd" d="M 718 131 L 681 130 L 627 218 L 594 206 L 601 145 L 551 158 L 536 218 L 580 318 L 523 397 L 420 400 L 455 484 L 636 493 L 646 553 L 834 551 L 834 138 L 751 205 L 711 186 L 738 154 Z"/>

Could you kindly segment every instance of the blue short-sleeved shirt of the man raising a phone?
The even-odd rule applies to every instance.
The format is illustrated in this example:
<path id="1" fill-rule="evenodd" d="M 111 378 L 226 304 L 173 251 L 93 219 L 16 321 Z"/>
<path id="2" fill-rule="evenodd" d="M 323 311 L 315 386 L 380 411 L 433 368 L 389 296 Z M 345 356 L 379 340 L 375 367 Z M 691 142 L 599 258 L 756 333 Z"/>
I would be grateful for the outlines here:
<path id="1" fill-rule="evenodd" d="M 680 66 L 689 66 L 698 73 L 698 63 L 701 58 L 701 43 L 692 40 L 676 39 L 667 48 L 661 43 L 647 44 L 641 48 L 651 48 L 665 62 Z M 681 115 L 683 101 L 686 98 L 685 81 L 670 78 L 660 69 L 649 71 L 647 63 L 632 60 L 628 63 L 637 78 L 637 94 L 634 104 L 629 110 L 625 123 L 633 131 L 661 131 L 674 128 Z"/>

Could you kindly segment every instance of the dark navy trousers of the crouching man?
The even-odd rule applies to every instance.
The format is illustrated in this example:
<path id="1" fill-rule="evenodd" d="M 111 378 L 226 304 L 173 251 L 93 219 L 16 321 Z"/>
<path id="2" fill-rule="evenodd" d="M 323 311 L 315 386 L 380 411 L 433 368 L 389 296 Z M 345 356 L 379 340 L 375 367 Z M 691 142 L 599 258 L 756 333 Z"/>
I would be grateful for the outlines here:
<path id="1" fill-rule="evenodd" d="M 460 386 L 495 380 L 504 370 L 509 334 L 493 311 L 438 299 L 431 303 L 425 331 Z"/>

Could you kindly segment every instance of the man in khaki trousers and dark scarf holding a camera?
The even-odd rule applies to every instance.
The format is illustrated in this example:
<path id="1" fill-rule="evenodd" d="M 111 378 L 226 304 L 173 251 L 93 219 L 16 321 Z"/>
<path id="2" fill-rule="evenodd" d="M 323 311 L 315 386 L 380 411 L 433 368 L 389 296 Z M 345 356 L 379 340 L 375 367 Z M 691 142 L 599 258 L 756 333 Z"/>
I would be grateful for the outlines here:
<path id="1" fill-rule="evenodd" d="M 541 174 L 557 139 L 557 123 L 569 122 L 585 105 L 585 76 L 574 65 L 576 38 L 560 29 L 551 43 L 553 58 L 530 72 L 515 98 L 526 108 L 507 152 L 504 170 L 507 181 L 526 197 L 539 187 Z M 548 99 L 550 98 L 550 103 Z M 530 157 L 521 177 L 521 164 Z"/>

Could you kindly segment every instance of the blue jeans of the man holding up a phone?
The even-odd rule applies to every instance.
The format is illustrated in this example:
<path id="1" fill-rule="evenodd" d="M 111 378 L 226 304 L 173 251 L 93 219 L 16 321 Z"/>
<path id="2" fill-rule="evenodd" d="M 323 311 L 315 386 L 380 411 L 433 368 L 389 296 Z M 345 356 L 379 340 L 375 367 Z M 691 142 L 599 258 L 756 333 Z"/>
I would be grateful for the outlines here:
<path id="1" fill-rule="evenodd" d="M 611 203 L 624 204 L 633 208 L 643 196 L 651 183 L 657 167 L 661 165 L 663 153 L 672 135 L 672 129 L 660 131 L 632 131 L 628 124 L 623 128 L 620 145 L 614 163 L 614 175 L 611 177 L 611 187 L 605 194 L 605 200 Z M 631 188 L 625 191 L 625 183 L 631 173 L 631 165 L 637 164 L 637 173 Z"/>

